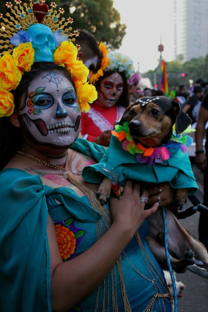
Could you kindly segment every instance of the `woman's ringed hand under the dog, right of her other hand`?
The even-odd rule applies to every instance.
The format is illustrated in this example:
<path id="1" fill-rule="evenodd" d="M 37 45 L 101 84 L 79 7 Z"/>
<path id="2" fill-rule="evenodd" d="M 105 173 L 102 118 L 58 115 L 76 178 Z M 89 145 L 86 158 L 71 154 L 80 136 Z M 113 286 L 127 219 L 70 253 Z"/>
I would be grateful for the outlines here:
<path id="1" fill-rule="evenodd" d="M 178 211 L 179 206 L 171 206 L 171 204 L 175 201 L 174 198 L 174 189 L 171 188 L 168 182 L 163 182 L 160 184 L 152 184 L 148 186 L 148 202 L 147 205 L 152 205 L 155 202 L 159 202 L 159 207 L 169 206 L 169 208 Z"/>

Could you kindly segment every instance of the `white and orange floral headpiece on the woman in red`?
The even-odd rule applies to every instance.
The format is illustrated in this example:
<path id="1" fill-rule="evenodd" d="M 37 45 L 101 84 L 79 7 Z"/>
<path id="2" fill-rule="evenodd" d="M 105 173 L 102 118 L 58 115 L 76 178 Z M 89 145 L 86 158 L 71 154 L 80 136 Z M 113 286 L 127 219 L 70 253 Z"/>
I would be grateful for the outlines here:
<path id="1" fill-rule="evenodd" d="M 102 44 L 102 49 L 104 50 L 103 53 L 103 60 L 101 62 L 101 68 L 99 71 L 94 74 L 92 71 L 90 72 L 90 82 L 92 84 L 95 83 L 95 81 L 98 81 L 100 76 L 104 75 L 104 71 L 120 71 L 124 72 L 126 78 L 130 78 L 130 76 L 133 74 L 133 61 L 130 59 L 130 57 L 118 52 L 118 51 L 108 51 L 104 44 Z M 104 49 L 105 47 L 105 49 Z M 102 68 L 103 66 L 103 68 Z M 101 70 L 101 71 L 100 71 Z"/>

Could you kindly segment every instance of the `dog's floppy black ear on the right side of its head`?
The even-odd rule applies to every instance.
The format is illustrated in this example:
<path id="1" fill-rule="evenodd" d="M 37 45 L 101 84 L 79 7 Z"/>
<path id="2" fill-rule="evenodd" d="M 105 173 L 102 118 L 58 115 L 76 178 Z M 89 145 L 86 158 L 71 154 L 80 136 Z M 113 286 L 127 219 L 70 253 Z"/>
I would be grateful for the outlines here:
<path id="1" fill-rule="evenodd" d="M 173 110 L 176 114 L 176 133 L 181 134 L 191 124 L 191 118 L 181 110 L 181 106 L 176 101 L 172 101 Z"/>

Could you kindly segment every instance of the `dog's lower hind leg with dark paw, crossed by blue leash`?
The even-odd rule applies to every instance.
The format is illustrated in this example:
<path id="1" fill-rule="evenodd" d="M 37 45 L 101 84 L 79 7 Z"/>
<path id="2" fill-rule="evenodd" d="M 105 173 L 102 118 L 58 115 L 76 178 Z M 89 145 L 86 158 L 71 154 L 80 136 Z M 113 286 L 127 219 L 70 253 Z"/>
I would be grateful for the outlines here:
<path id="1" fill-rule="evenodd" d="M 158 241 L 156 241 L 152 236 L 148 235 L 146 237 L 148 245 L 154 254 L 157 261 L 160 263 L 160 266 L 163 270 L 168 270 L 167 259 L 165 254 L 165 247 L 161 245 Z M 169 254 L 169 258 L 171 261 L 171 266 L 174 271 L 177 273 L 186 272 L 186 267 L 188 265 L 194 264 L 194 252 L 191 249 L 187 249 L 184 253 L 183 259 L 175 259 L 172 255 Z"/>

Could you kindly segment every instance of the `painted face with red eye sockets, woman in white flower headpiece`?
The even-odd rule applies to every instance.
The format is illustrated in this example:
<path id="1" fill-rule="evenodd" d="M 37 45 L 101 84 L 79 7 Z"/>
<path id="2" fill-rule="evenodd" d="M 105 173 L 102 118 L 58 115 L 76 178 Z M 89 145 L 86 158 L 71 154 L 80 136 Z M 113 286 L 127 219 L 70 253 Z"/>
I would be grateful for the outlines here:
<path id="1" fill-rule="evenodd" d="M 103 107 L 114 106 L 123 92 L 123 79 L 119 73 L 101 80 L 98 88 L 98 101 Z"/>

